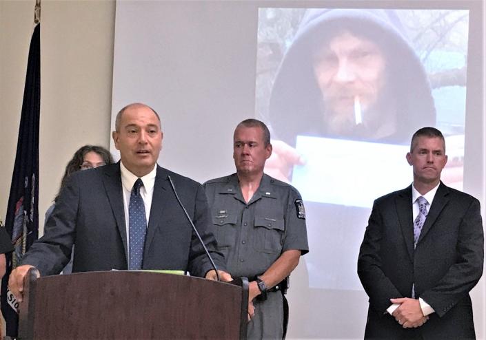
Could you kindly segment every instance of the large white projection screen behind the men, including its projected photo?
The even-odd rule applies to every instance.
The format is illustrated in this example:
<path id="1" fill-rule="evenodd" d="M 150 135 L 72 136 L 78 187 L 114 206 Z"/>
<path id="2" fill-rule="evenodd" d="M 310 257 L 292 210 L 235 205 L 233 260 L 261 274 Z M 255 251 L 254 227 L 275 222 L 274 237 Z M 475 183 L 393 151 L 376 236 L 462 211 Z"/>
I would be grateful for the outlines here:
<path id="1" fill-rule="evenodd" d="M 484 8 L 480 1 L 118 1 L 112 126 L 146 103 L 159 164 L 205 182 L 234 173 L 232 133 L 270 127 L 265 172 L 303 196 L 310 253 L 291 275 L 288 337 L 363 337 L 356 259 L 373 201 L 412 182 L 409 139 L 446 138 L 443 182 L 485 206 Z M 331 84 L 336 51 L 349 50 Z M 117 151 L 112 145 L 112 151 Z M 473 292 L 485 334 L 485 284 Z"/>

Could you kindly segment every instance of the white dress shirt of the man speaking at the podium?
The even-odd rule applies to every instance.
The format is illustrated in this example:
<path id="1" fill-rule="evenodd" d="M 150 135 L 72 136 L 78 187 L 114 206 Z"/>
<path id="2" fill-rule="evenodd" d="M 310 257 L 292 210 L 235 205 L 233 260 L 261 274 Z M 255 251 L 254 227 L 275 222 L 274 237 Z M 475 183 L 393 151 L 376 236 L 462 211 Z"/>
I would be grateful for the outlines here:
<path id="1" fill-rule="evenodd" d="M 123 207 L 125 208 L 125 229 L 127 235 L 127 261 L 130 259 L 130 217 L 128 216 L 128 206 L 130 206 L 130 195 L 132 194 L 133 184 L 139 178 L 131 173 L 120 161 L 121 187 L 123 188 Z M 147 175 L 141 177 L 143 187 L 140 188 L 140 195 L 145 206 L 145 218 L 147 221 L 150 217 L 150 208 L 152 207 L 152 197 L 154 196 L 155 176 L 157 173 L 157 164 L 154 169 Z"/>

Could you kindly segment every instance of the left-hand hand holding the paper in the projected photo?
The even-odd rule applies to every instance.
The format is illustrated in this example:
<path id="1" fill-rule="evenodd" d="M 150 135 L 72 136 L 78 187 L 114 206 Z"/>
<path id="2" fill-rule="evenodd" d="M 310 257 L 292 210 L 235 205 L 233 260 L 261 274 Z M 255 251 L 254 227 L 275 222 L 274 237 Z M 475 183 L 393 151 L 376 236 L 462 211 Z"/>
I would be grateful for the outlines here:
<path id="1" fill-rule="evenodd" d="M 272 147 L 272 156 L 265 163 L 265 173 L 277 180 L 290 182 L 294 165 L 305 164 L 305 159 L 296 149 L 281 140 L 272 140 Z"/>

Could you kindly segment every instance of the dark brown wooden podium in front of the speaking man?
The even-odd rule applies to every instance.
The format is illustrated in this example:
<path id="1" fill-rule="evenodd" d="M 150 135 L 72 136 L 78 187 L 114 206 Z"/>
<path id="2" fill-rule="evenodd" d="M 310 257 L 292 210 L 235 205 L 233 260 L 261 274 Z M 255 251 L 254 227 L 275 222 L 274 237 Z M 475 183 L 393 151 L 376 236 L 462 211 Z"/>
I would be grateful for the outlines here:
<path id="1" fill-rule="evenodd" d="M 246 339 L 246 278 L 226 284 L 120 270 L 36 279 L 33 269 L 28 276 L 19 339 Z"/>

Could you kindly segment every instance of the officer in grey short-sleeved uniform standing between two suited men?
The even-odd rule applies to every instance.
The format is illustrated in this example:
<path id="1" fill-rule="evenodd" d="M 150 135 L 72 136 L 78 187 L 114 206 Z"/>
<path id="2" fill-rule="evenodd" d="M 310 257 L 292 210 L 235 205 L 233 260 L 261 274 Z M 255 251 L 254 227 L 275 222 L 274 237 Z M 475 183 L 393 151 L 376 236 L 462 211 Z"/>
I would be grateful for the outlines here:
<path id="1" fill-rule="evenodd" d="M 271 154 L 266 125 L 243 120 L 234 131 L 236 173 L 204 184 L 227 270 L 250 280 L 248 339 L 285 337 L 286 278 L 309 249 L 301 195 L 263 173 Z"/>

